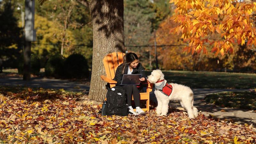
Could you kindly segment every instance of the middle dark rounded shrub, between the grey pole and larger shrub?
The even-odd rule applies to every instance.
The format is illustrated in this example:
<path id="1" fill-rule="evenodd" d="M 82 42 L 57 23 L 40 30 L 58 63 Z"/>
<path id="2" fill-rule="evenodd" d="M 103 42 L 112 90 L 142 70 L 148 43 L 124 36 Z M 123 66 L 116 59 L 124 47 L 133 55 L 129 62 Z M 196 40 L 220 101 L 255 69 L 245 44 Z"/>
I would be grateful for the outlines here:
<path id="1" fill-rule="evenodd" d="M 56 78 L 63 76 L 65 59 L 59 54 L 51 56 L 45 65 L 45 75 Z"/>

